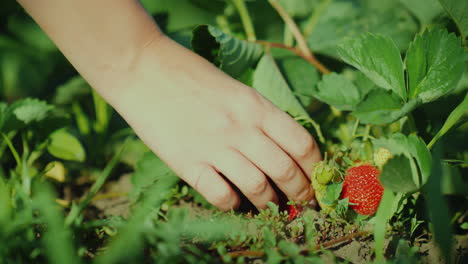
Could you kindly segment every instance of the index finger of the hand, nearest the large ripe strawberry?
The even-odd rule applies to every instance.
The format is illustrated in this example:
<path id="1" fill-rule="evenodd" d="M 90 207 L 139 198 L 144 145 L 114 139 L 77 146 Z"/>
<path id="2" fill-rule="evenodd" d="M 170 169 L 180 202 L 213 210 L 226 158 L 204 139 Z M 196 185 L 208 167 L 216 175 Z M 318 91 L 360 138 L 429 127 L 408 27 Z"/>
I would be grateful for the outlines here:
<path id="1" fill-rule="evenodd" d="M 317 143 L 305 128 L 288 114 L 275 111 L 263 124 L 263 131 L 310 177 L 314 163 L 322 159 Z"/>

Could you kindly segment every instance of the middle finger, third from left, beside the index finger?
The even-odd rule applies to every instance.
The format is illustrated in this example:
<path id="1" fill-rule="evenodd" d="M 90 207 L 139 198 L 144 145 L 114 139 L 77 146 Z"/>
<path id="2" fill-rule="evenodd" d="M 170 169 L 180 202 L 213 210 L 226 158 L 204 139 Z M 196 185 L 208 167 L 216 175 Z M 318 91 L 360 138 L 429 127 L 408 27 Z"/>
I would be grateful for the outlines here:
<path id="1" fill-rule="evenodd" d="M 314 192 L 309 181 L 275 142 L 258 131 L 241 147 L 242 153 L 268 175 L 278 187 L 295 201 L 310 201 Z"/>

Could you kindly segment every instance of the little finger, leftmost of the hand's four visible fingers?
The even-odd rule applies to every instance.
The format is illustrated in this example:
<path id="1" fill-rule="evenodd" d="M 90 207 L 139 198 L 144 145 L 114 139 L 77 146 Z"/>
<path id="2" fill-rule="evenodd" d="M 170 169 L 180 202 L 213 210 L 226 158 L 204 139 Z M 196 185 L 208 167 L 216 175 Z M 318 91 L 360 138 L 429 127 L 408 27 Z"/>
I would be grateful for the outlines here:
<path id="1" fill-rule="evenodd" d="M 183 179 L 219 209 L 229 211 L 239 207 L 239 196 L 213 167 L 199 165 Z"/>

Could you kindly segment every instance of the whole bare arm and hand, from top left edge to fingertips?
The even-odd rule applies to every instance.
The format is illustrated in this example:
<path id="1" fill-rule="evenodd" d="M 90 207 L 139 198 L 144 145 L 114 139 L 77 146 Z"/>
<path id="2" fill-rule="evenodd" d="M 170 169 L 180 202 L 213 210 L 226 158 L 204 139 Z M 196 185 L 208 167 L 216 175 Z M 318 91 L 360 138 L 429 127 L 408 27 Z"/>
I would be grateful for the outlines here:
<path id="1" fill-rule="evenodd" d="M 252 88 L 170 40 L 137 0 L 19 0 L 59 49 L 185 182 L 221 210 L 311 201 L 310 134 Z"/>

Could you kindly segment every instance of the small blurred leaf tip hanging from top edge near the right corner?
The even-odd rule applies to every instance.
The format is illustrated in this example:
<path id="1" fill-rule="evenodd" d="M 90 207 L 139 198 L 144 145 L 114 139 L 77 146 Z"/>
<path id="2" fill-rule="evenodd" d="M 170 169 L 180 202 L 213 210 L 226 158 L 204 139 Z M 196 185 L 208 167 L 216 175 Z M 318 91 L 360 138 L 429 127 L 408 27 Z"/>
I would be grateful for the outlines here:
<path id="1" fill-rule="evenodd" d="M 400 2 L 419 19 L 422 25 L 429 24 L 444 11 L 437 0 L 400 0 Z"/>

